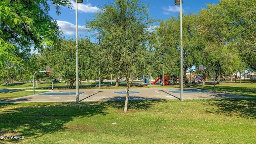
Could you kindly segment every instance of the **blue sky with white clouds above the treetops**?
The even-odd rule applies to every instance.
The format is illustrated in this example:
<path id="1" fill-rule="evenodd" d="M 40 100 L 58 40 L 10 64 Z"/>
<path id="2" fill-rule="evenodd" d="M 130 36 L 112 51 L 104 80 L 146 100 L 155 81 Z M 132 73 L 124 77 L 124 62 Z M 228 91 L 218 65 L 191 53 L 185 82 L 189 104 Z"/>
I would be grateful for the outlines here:
<path id="1" fill-rule="evenodd" d="M 58 25 L 62 29 L 65 37 L 75 37 L 75 2 L 72 9 L 68 7 L 61 7 L 61 14 L 58 16 L 54 7 L 50 8 L 50 16 L 58 21 Z M 88 35 L 83 30 L 85 20 L 93 19 L 93 16 L 98 12 L 103 4 L 112 3 L 114 0 L 84 0 L 83 3 L 78 4 L 78 35 Z M 150 15 L 155 19 L 166 20 L 171 16 L 178 16 L 180 6 L 174 4 L 174 0 L 140 0 L 145 4 L 149 4 L 148 8 Z M 206 4 L 217 4 L 219 0 L 183 0 L 182 11 L 187 14 L 189 12 L 197 13 L 202 8 L 206 8 Z"/>

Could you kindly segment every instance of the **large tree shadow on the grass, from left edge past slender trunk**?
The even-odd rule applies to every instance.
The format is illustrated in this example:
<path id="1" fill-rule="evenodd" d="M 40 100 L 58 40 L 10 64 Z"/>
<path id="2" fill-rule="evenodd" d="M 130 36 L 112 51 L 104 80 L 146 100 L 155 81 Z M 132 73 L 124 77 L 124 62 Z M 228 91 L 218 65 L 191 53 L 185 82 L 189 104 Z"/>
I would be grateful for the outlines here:
<path id="1" fill-rule="evenodd" d="M 129 101 L 129 108 L 146 110 L 156 102 L 158 100 Z M 121 110 L 124 101 L 0 104 L 0 136 L 40 137 L 65 130 L 65 124 L 74 118 L 107 115 L 111 107 Z"/>

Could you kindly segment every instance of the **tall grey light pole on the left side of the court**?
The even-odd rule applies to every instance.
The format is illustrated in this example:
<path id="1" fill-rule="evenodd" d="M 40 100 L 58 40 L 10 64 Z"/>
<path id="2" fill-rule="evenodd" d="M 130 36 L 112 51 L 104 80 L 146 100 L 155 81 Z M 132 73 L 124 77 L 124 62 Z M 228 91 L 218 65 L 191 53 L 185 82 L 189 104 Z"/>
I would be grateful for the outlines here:
<path id="1" fill-rule="evenodd" d="M 76 1 L 76 103 L 79 103 L 79 76 L 78 76 L 78 18 L 77 18 L 77 3 L 82 3 L 83 0 Z"/>

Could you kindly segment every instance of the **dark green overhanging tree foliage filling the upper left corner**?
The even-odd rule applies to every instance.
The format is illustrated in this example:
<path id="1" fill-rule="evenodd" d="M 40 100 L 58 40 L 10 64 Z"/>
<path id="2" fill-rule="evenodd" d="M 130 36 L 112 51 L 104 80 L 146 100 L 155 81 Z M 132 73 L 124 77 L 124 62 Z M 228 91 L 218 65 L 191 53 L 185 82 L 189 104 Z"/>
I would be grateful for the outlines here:
<path id="1" fill-rule="evenodd" d="M 60 14 L 60 6 L 71 8 L 70 0 L 1 0 L 0 1 L 0 70 L 18 64 L 30 48 L 56 44 L 60 34 L 56 21 L 49 15 L 50 5 Z M 1 74 L 1 75 L 2 75 Z"/>

